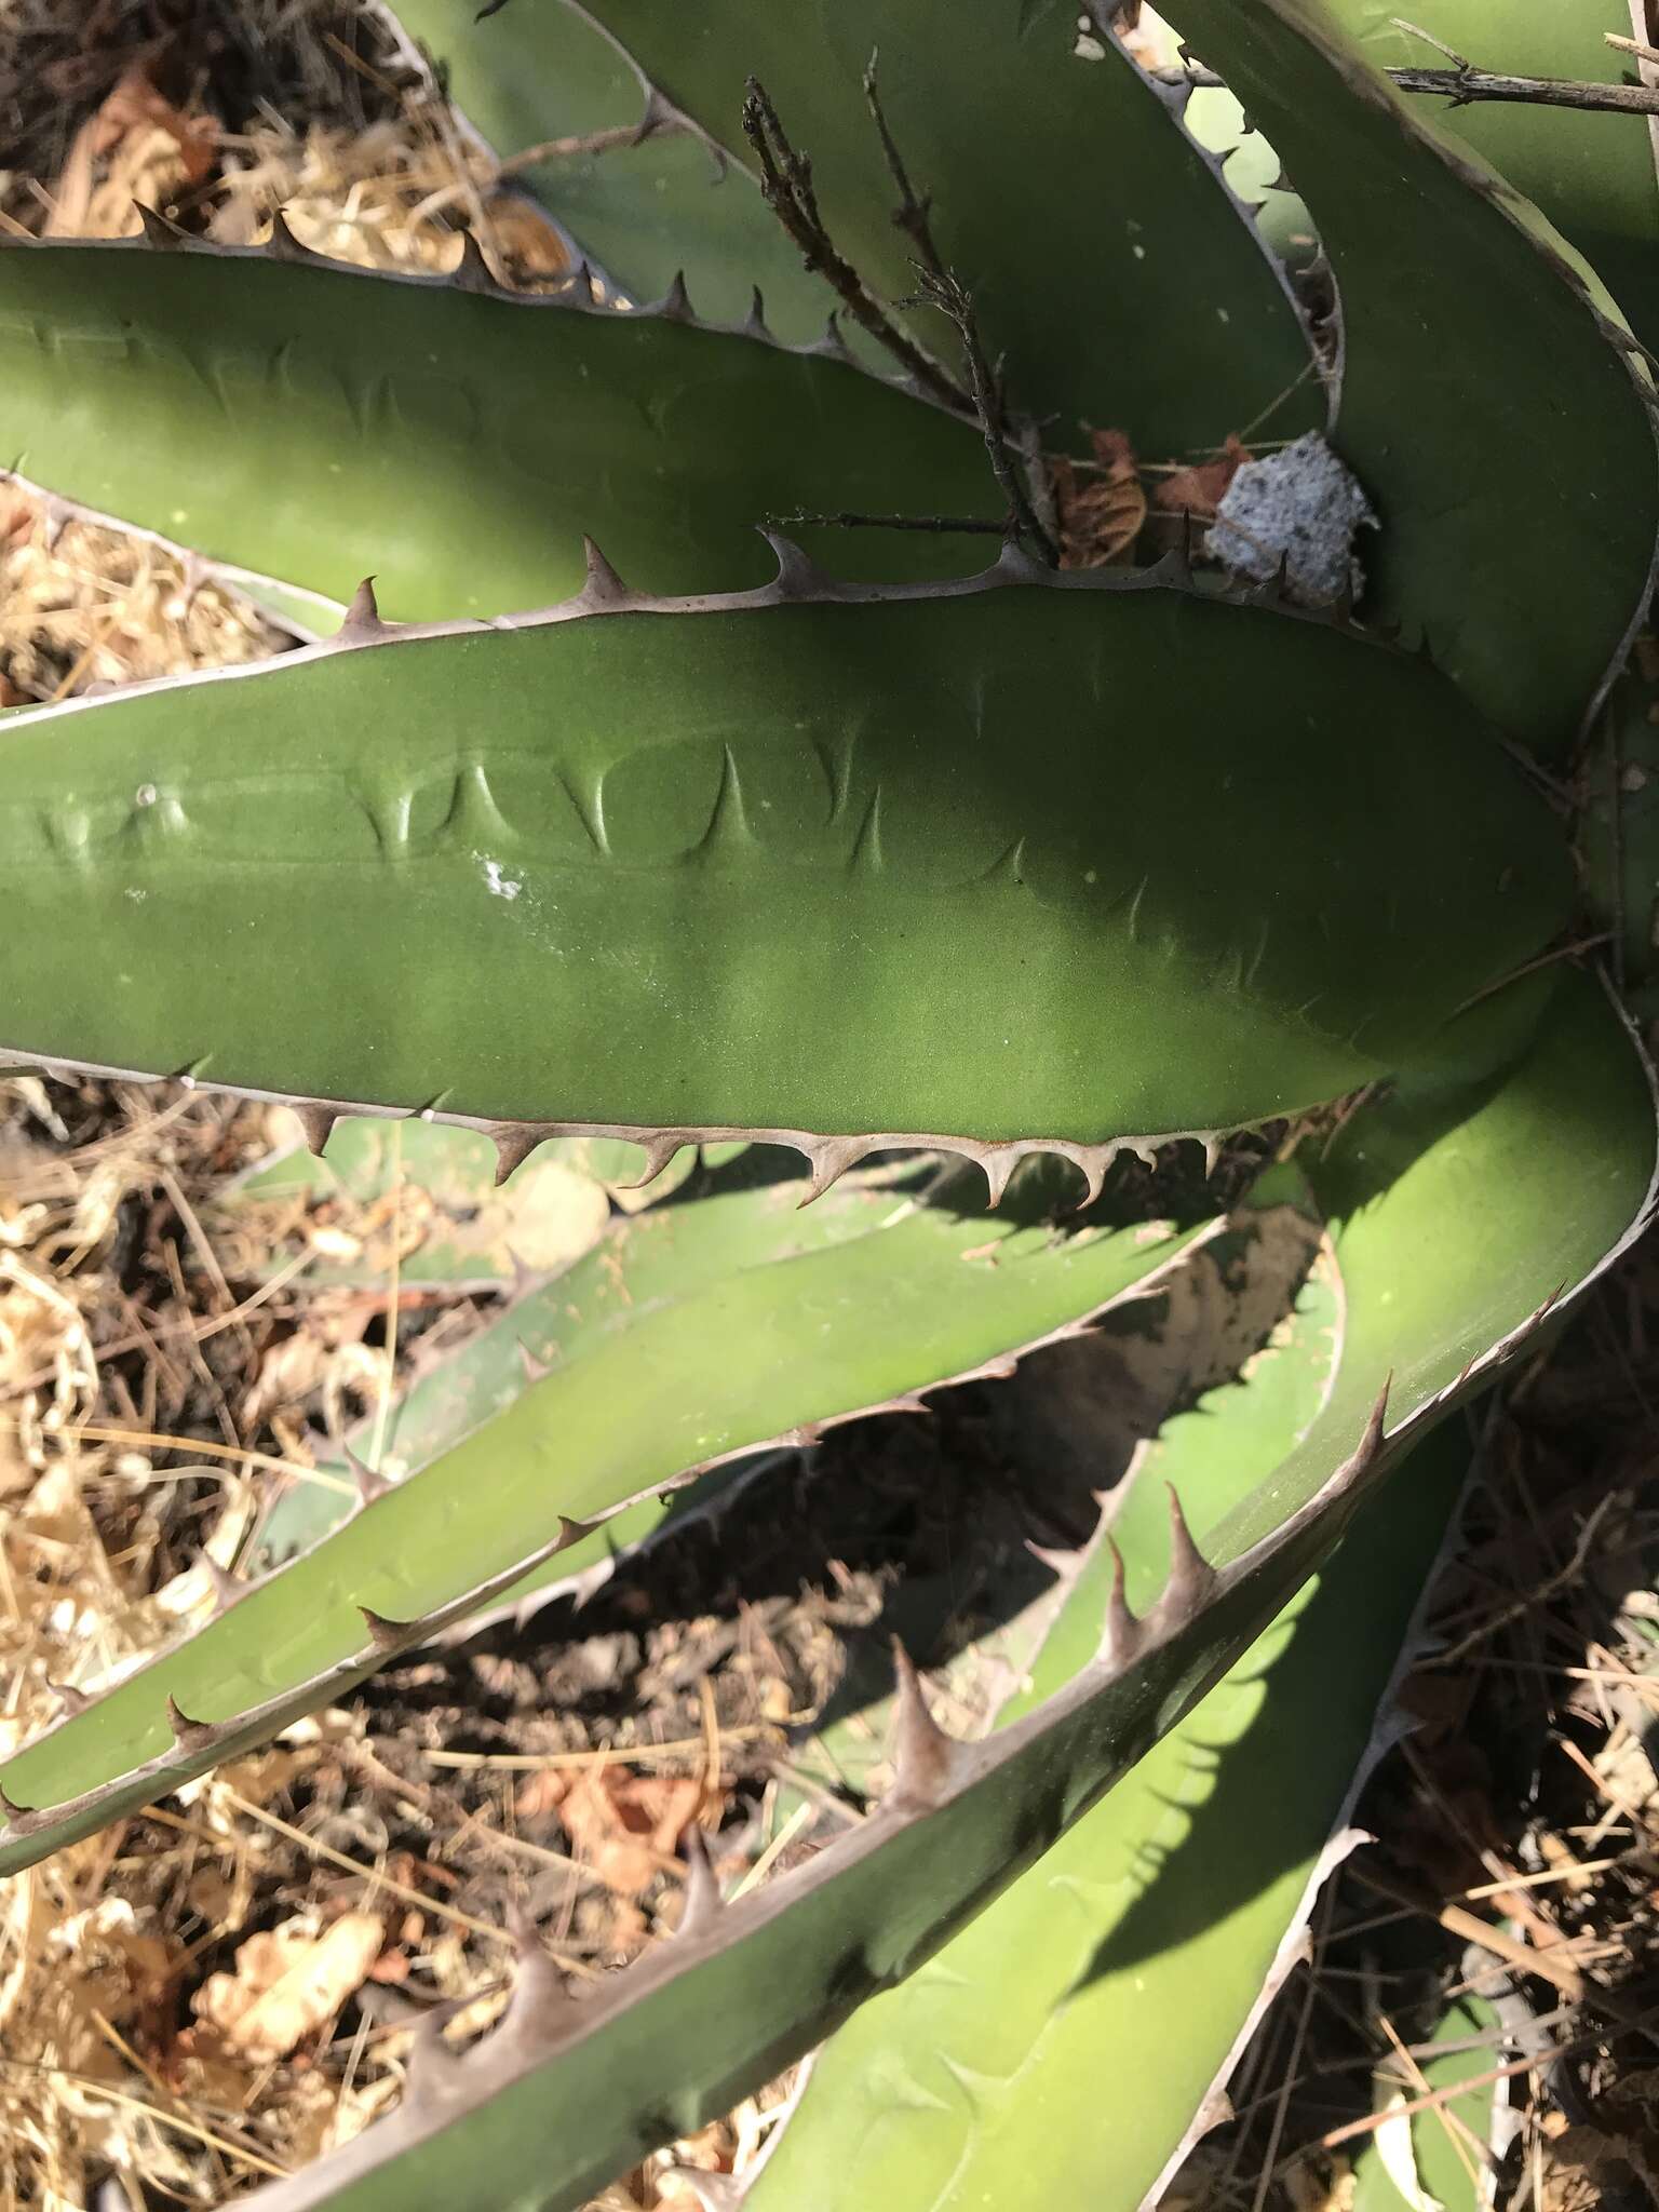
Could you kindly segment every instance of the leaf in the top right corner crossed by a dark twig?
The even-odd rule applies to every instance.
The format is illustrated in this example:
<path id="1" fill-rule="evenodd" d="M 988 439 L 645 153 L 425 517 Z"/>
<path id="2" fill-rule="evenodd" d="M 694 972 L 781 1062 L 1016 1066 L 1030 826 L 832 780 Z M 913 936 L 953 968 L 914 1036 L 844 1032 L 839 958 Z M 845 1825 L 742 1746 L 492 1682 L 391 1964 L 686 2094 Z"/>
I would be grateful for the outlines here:
<path id="1" fill-rule="evenodd" d="M 1332 15 L 1378 69 L 1442 69 L 1447 55 L 1413 38 L 1394 0 L 1327 0 Z M 1535 7 L 1533 0 L 1433 0 L 1413 13 L 1475 69 L 1579 84 L 1630 82 L 1635 64 L 1606 31 L 1608 7 Z M 1659 184 L 1646 115 L 1593 115 L 1522 100 L 1429 102 L 1447 137 L 1491 161 L 1571 239 L 1646 345 L 1659 345 Z"/>

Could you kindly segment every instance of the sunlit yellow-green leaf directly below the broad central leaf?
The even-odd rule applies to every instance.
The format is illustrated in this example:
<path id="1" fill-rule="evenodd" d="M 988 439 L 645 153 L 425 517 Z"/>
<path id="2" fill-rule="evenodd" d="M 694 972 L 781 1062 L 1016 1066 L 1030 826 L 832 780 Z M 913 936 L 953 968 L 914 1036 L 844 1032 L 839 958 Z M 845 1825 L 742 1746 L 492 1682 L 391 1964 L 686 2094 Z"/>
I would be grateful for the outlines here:
<path id="1" fill-rule="evenodd" d="M 0 1874 L 509 1599 L 624 1506 L 1082 1327 L 1206 1234 L 1066 1237 L 1053 1197 L 1037 1168 L 998 1214 L 845 1186 L 803 1219 L 790 1183 L 641 1214 L 622 1283 L 608 1250 L 560 1281 L 586 1329 L 566 1332 L 564 1358 L 504 1413 L 7 1761 L 0 1790 L 38 1809 L 0 1829 Z"/>

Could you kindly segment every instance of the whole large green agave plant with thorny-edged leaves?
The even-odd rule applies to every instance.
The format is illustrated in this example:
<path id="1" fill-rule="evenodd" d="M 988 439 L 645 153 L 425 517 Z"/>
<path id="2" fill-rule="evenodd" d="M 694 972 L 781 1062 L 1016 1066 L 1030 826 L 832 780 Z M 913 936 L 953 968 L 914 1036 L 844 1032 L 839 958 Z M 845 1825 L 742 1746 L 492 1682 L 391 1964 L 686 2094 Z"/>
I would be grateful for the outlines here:
<path id="1" fill-rule="evenodd" d="M 272 2208 L 575 2205 L 816 2046 L 745 2203 L 1155 2192 L 1329 1860 L 1467 1467 L 1422 1440 L 1650 1208 L 1564 779 L 1648 593 L 1652 392 L 1515 188 L 1571 173 L 1551 212 L 1646 279 L 1646 124 L 1544 117 L 1590 150 L 1553 164 L 1531 115 L 1504 181 L 1358 0 L 1188 0 L 1316 226 L 1316 323 L 1104 13 L 889 13 L 411 0 L 498 148 L 617 142 L 560 179 L 597 274 L 557 296 L 281 223 L 0 252 L 20 471 L 319 633 L 7 719 L 7 1060 L 283 1097 L 319 1146 L 465 1124 L 504 1172 L 732 1148 L 411 1396 L 409 1480 L 356 1462 L 347 1517 L 9 1759 L 0 1871 L 602 1573 L 732 1458 L 1152 1292 L 1177 1329 L 1272 1210 L 1321 1243 L 991 1732 L 900 1652 L 867 1820 L 732 1905 L 695 1856 L 679 1936 L 586 2002 L 524 1931 L 502 2024 L 462 2055 L 434 2017 Z M 1055 566 L 1091 420 L 1301 440 L 1254 515 L 1312 471 L 1332 580 L 1243 515 Z"/>

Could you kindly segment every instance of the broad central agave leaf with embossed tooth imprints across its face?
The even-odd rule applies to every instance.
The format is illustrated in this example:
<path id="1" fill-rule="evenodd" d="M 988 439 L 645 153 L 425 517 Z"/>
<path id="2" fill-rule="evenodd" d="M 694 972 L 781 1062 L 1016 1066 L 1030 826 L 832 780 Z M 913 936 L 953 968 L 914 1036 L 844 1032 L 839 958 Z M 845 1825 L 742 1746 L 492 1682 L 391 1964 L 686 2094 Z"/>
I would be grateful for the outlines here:
<path id="1" fill-rule="evenodd" d="M 1402 655 L 1157 573 L 874 593 L 792 553 L 734 602 L 602 580 L 20 717 L 0 867 L 7 1051 L 821 1179 L 894 1144 L 1097 1177 L 1338 1097 L 1568 894 Z"/>

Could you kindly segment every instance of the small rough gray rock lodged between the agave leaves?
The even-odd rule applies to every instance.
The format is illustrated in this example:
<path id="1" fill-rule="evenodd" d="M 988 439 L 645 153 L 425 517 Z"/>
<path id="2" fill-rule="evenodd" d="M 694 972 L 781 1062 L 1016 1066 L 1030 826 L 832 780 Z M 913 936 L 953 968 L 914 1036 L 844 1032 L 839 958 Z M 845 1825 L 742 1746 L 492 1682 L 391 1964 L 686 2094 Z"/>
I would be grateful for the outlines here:
<path id="1" fill-rule="evenodd" d="M 1316 429 L 1248 460 L 1228 487 L 1203 549 L 1239 575 L 1265 584 L 1285 566 L 1285 591 L 1303 606 L 1329 606 L 1365 588 L 1354 535 L 1376 529 L 1371 502 Z"/>

